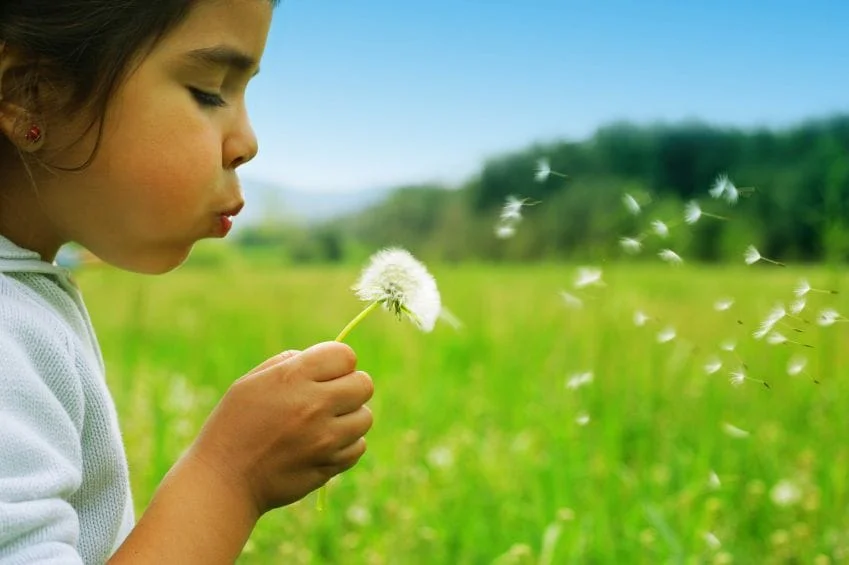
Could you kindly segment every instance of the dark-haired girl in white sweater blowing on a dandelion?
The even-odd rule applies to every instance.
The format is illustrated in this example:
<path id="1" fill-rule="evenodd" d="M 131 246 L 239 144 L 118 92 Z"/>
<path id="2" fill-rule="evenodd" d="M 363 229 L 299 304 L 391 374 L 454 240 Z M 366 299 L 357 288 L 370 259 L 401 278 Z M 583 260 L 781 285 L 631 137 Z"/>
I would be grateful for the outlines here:
<path id="1" fill-rule="evenodd" d="M 226 235 L 257 143 L 273 0 L 0 0 L 0 562 L 226 563 L 350 468 L 369 376 L 344 345 L 239 379 L 134 524 L 103 362 L 60 246 L 139 273 Z"/>

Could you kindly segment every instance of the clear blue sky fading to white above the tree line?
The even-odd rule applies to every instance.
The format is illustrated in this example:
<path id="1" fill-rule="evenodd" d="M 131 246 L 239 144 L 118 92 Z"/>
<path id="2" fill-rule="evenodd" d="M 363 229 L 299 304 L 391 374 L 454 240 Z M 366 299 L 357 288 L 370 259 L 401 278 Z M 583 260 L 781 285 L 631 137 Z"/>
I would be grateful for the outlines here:
<path id="1" fill-rule="evenodd" d="M 619 119 L 847 112 L 848 29 L 838 0 L 283 0 L 242 175 L 316 192 L 454 184 Z"/>

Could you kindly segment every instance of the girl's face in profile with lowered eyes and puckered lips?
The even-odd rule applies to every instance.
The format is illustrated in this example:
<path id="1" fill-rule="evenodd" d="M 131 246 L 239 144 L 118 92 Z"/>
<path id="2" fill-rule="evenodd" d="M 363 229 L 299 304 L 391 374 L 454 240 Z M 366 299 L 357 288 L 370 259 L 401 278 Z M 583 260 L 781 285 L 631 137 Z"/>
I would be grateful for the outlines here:
<path id="1" fill-rule="evenodd" d="M 160 273 L 198 240 L 226 234 L 223 217 L 243 202 L 236 169 L 257 151 L 245 88 L 271 13 L 266 0 L 203 0 L 144 59 L 110 105 L 91 166 L 40 183 L 62 239 L 118 267 Z M 241 56 L 244 65 L 215 60 Z M 61 160 L 79 164 L 91 147 Z"/>

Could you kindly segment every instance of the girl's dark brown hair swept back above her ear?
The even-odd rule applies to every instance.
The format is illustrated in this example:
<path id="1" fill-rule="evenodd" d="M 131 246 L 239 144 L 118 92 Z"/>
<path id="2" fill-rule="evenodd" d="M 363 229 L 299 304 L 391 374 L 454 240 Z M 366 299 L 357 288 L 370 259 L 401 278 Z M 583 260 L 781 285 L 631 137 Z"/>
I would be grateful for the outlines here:
<path id="1" fill-rule="evenodd" d="M 87 111 L 89 128 L 102 129 L 101 118 L 130 65 L 202 1 L 0 0 L 0 42 L 35 62 L 16 81 L 18 88 L 65 90 L 61 107 L 37 111 L 48 117 Z"/>

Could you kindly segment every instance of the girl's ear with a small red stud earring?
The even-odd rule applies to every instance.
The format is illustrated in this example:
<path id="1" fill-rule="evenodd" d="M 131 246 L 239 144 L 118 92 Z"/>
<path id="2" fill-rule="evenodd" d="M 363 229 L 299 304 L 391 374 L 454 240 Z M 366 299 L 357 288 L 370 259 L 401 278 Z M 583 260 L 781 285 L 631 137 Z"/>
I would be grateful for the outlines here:
<path id="1" fill-rule="evenodd" d="M 35 123 L 34 113 L 15 100 L 15 78 L 31 66 L 31 61 L 0 43 L 0 132 L 21 151 L 32 153 L 41 148 L 44 135 L 28 136 Z M 19 95 L 19 93 L 17 93 Z M 32 102 L 32 101 L 29 101 Z M 39 130 L 43 128 L 39 127 Z"/>

